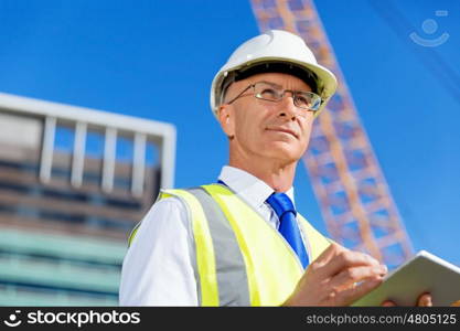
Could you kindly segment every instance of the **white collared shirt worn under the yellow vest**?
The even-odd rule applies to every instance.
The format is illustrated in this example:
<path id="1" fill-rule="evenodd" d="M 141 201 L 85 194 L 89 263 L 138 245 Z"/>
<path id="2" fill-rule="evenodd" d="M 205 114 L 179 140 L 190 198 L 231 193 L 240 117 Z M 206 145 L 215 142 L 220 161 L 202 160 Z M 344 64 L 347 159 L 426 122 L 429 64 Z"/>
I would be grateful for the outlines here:
<path id="1" fill-rule="evenodd" d="M 278 216 L 265 202 L 274 193 L 269 185 L 228 166 L 222 169 L 218 179 L 278 228 Z M 286 194 L 295 203 L 293 188 Z M 120 306 L 197 306 L 193 241 L 191 222 L 182 202 L 171 197 L 154 203 L 125 256 Z"/>

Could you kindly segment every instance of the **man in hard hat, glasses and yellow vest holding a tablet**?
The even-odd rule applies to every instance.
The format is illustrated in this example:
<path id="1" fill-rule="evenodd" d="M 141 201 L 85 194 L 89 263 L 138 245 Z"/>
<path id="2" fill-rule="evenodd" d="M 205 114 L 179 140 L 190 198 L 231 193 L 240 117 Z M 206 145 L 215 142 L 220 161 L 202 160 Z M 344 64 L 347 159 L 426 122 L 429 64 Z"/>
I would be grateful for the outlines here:
<path id="1" fill-rule="evenodd" d="M 232 54 L 211 88 L 228 166 L 218 183 L 162 191 L 130 237 L 120 305 L 346 306 L 379 285 L 385 266 L 332 243 L 295 210 L 297 163 L 335 88 L 286 31 Z"/>

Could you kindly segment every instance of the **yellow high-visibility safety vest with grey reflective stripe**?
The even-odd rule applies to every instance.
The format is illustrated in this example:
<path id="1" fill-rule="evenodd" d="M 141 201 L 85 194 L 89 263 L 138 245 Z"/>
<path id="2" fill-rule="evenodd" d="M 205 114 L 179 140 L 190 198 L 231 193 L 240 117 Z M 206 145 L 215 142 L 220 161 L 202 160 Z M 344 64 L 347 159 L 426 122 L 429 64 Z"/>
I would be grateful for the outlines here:
<path id="1" fill-rule="evenodd" d="M 296 253 L 231 189 L 165 190 L 159 199 L 170 196 L 184 203 L 192 222 L 201 306 L 280 306 L 292 293 L 303 274 Z M 330 242 L 298 217 L 312 261 Z"/>

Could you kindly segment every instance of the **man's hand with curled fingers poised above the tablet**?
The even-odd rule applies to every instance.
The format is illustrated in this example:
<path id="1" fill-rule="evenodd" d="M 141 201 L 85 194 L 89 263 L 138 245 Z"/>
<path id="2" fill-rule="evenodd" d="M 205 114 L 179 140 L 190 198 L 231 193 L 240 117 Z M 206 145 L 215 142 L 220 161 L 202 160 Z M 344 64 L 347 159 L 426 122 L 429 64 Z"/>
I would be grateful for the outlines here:
<path id="1" fill-rule="evenodd" d="M 386 273 L 370 255 L 333 243 L 309 265 L 284 306 L 349 306 L 377 287 Z"/>

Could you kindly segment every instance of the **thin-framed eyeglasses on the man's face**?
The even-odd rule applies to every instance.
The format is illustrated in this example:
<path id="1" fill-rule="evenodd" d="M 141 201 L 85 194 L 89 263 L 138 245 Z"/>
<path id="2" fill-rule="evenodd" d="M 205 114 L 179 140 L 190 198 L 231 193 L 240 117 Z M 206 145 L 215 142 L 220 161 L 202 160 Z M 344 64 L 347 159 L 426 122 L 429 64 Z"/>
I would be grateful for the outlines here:
<path id="1" fill-rule="evenodd" d="M 322 99 L 318 94 L 314 94 L 312 92 L 282 89 L 278 85 L 269 82 L 258 82 L 249 85 L 226 104 L 231 105 L 237 98 L 242 97 L 243 94 L 249 88 L 254 89 L 254 96 L 256 98 L 272 103 L 279 103 L 280 100 L 282 100 L 285 94 L 287 92 L 290 92 L 296 107 L 312 111 L 319 110 L 322 104 Z"/>

